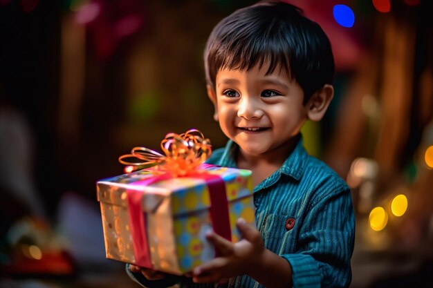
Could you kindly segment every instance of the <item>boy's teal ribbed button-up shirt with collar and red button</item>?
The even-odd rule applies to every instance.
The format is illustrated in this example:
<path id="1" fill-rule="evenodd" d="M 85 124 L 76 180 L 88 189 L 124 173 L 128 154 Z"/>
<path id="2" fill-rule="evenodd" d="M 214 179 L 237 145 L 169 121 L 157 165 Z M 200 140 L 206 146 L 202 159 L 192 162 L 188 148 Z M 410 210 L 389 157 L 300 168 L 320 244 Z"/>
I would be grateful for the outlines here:
<path id="1" fill-rule="evenodd" d="M 239 146 L 228 141 L 212 153 L 209 164 L 236 168 Z M 257 229 L 267 249 L 292 267 L 293 287 L 349 287 L 355 215 L 349 186 L 329 166 L 308 155 L 299 137 L 291 155 L 254 189 Z M 214 287 L 185 277 L 147 281 L 145 287 Z M 165 286 L 164 286 L 165 285 Z M 249 276 L 230 279 L 228 287 L 263 287 Z"/>

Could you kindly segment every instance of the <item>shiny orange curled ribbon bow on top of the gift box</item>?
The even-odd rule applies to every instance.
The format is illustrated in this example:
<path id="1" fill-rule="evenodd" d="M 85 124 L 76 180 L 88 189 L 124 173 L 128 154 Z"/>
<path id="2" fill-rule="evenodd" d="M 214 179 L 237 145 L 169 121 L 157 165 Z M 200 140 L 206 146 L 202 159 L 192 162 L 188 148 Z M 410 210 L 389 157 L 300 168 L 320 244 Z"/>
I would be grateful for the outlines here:
<path id="1" fill-rule="evenodd" d="M 184 176 L 196 173 L 198 167 L 212 153 L 210 140 L 205 139 L 197 129 L 190 129 L 182 134 L 169 133 L 161 141 L 165 155 L 146 147 L 134 147 L 131 154 L 119 157 L 119 162 L 132 166 L 156 166 L 153 171 Z M 137 161 L 130 162 L 128 158 Z"/>

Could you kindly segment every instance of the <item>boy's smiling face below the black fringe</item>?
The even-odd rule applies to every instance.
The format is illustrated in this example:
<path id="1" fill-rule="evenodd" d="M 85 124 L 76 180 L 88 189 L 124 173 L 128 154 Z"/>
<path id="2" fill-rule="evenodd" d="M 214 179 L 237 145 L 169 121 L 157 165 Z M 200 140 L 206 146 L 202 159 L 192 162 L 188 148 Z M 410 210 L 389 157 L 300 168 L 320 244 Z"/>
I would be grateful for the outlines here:
<path id="1" fill-rule="evenodd" d="M 216 94 L 208 88 L 223 133 L 246 155 L 279 150 L 308 117 L 302 88 L 284 70 L 276 68 L 270 75 L 266 70 L 266 65 L 250 71 L 220 70 Z"/>

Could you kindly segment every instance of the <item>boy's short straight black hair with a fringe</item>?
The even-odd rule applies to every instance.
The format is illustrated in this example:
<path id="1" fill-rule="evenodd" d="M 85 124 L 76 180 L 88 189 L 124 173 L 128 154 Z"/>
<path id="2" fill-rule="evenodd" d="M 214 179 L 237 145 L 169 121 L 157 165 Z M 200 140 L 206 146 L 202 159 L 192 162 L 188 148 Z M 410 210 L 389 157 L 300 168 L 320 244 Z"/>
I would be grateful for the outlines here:
<path id="1" fill-rule="evenodd" d="M 205 46 L 207 84 L 215 89 L 221 69 L 250 70 L 268 65 L 286 70 L 304 90 L 304 104 L 324 84 L 332 84 L 331 44 L 320 26 L 284 2 L 258 3 L 221 20 Z"/>

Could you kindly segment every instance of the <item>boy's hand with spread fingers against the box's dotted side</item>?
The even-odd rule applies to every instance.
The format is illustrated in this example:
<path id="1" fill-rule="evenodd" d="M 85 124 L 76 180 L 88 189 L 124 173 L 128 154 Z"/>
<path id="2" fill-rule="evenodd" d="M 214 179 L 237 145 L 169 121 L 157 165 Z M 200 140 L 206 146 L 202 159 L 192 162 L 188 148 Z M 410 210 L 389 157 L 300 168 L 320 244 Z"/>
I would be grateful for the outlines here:
<path id="1" fill-rule="evenodd" d="M 219 249 L 221 256 L 196 267 L 192 280 L 197 283 L 227 282 L 233 276 L 248 274 L 257 267 L 266 251 L 260 232 L 239 219 L 237 227 L 243 239 L 235 244 L 214 232 L 207 235 L 208 240 Z"/>

